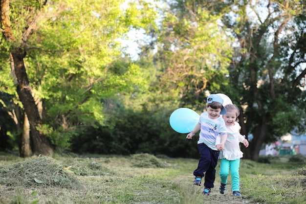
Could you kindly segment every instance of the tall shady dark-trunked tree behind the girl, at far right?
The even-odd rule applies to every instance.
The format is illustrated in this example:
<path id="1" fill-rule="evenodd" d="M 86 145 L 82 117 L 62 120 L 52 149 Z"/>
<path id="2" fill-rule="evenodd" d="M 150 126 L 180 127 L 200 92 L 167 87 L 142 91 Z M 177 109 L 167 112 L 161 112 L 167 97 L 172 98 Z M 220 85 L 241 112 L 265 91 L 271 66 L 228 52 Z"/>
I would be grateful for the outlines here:
<path id="1" fill-rule="evenodd" d="M 258 160 L 264 142 L 305 131 L 305 4 L 302 0 L 220 3 L 236 39 L 224 92 L 240 105 L 241 133 L 252 135 L 245 158 Z"/>

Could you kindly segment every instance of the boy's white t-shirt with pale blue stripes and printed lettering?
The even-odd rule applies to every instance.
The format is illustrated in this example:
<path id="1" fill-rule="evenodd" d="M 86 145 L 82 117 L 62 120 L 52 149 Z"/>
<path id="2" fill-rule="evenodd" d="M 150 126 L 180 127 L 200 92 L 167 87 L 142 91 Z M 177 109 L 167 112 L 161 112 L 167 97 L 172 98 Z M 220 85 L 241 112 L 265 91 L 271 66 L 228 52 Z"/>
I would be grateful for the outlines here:
<path id="1" fill-rule="evenodd" d="M 204 143 L 212 150 L 217 150 L 216 139 L 217 136 L 226 135 L 227 130 L 225 122 L 221 116 L 217 119 L 211 119 L 208 117 L 208 113 L 202 113 L 198 123 L 201 125 L 201 131 L 199 134 L 198 144 Z"/>

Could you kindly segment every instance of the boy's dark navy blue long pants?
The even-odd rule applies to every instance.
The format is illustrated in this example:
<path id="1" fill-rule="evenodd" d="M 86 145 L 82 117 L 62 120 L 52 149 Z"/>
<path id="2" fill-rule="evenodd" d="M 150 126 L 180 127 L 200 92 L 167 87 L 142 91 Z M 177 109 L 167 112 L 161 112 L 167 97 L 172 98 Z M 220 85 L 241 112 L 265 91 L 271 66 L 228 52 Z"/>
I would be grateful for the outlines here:
<path id="1" fill-rule="evenodd" d="M 200 153 L 197 169 L 194 171 L 196 177 L 204 177 L 204 186 L 213 188 L 216 178 L 216 166 L 219 158 L 219 151 L 210 149 L 206 144 L 197 144 Z"/>

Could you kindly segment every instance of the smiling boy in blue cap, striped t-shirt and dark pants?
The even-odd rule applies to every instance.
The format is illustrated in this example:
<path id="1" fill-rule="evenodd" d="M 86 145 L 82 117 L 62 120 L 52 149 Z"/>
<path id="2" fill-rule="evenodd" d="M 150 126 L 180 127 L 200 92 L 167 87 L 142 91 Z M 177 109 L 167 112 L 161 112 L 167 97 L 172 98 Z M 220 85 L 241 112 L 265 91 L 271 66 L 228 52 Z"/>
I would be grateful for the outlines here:
<path id="1" fill-rule="evenodd" d="M 226 126 L 220 114 L 225 114 L 226 110 L 223 107 L 223 99 L 218 94 L 211 94 L 207 97 L 207 113 L 202 113 L 200 119 L 191 133 L 186 138 L 192 137 L 200 130 L 199 139 L 197 141 L 200 159 L 197 169 L 194 171 L 195 180 L 193 184 L 201 185 L 201 180 L 204 177 L 204 195 L 211 192 L 214 187 L 216 178 L 216 166 L 219 157 L 219 150 L 222 150 L 227 138 Z M 216 138 L 220 134 L 221 143 L 216 145 Z"/>

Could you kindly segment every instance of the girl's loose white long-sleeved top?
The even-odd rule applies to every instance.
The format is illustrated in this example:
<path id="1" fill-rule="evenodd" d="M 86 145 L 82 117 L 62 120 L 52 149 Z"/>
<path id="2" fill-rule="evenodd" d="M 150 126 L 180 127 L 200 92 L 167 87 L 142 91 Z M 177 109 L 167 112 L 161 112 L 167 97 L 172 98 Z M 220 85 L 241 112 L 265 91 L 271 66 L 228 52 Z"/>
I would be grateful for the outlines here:
<path id="1" fill-rule="evenodd" d="M 224 150 L 220 151 L 219 159 L 236 160 L 243 157 L 239 142 L 243 142 L 244 136 L 240 135 L 240 125 L 235 122 L 234 126 L 226 126 L 227 139 Z M 221 136 L 216 139 L 216 145 L 221 143 Z"/>

